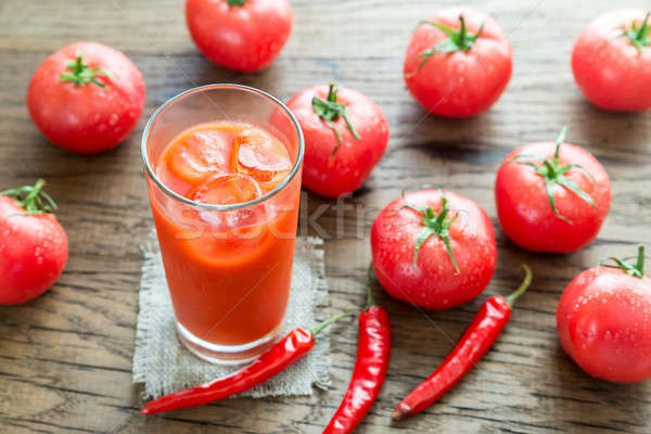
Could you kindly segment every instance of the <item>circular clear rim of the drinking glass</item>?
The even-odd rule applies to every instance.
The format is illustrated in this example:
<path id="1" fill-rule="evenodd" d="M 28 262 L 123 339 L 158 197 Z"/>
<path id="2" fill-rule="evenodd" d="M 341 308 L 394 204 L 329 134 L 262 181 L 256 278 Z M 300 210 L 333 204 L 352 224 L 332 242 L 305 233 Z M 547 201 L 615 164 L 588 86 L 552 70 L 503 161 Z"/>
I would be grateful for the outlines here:
<path id="1" fill-rule="evenodd" d="M 149 161 L 149 155 L 146 152 L 148 138 L 150 136 L 150 132 L 154 125 L 154 122 L 163 113 L 163 111 L 165 111 L 168 106 L 170 106 L 175 102 L 188 97 L 191 93 L 202 92 L 202 91 L 210 90 L 210 89 L 231 89 L 231 90 L 234 89 L 234 90 L 253 92 L 258 95 L 261 95 L 261 97 L 266 98 L 267 100 L 269 100 L 270 102 L 275 103 L 280 108 L 282 108 L 282 111 L 288 115 L 288 117 L 294 125 L 294 128 L 296 129 L 296 133 L 298 136 L 298 154 L 296 155 L 296 162 L 294 163 L 294 166 L 292 167 L 292 171 L 290 171 L 290 174 L 286 176 L 286 178 L 283 179 L 281 183 L 276 186 L 276 188 L 273 190 L 268 191 L 267 193 L 263 194 L 259 197 L 254 199 L 253 201 L 241 202 L 241 203 L 235 203 L 235 204 L 221 204 L 221 205 L 207 204 L 207 203 L 203 203 L 203 202 L 193 201 L 191 199 L 188 199 L 188 197 L 173 191 L 169 187 L 165 186 L 165 183 L 154 173 L 154 169 Z M 191 205 L 191 206 L 194 206 L 197 208 L 203 208 L 203 209 L 210 209 L 210 210 L 232 210 L 232 209 L 245 208 L 247 206 L 257 205 L 259 203 L 263 203 L 263 202 L 267 201 L 268 199 L 275 196 L 276 194 L 280 193 L 296 177 L 296 174 L 298 173 L 301 165 L 303 164 L 304 154 L 305 154 L 305 140 L 303 138 L 303 130 L 301 129 L 301 124 L 298 124 L 298 120 L 296 119 L 296 117 L 294 116 L 292 111 L 290 111 L 290 108 L 288 108 L 288 106 L 282 101 L 280 101 L 278 98 L 273 97 L 270 93 L 265 92 L 264 90 L 259 90 L 259 89 L 253 88 L 251 86 L 235 85 L 235 84 L 213 84 L 213 85 L 199 86 L 199 87 L 188 89 L 181 93 L 178 93 L 178 94 L 171 97 L 170 99 L 165 101 L 151 115 L 146 125 L 144 126 L 144 130 L 142 131 L 142 138 L 140 139 L 140 157 L 142 159 L 142 164 L 144 166 L 145 174 L 154 181 L 154 183 L 161 190 L 163 190 L 163 192 L 165 194 L 167 194 L 171 199 L 180 201 L 187 205 Z"/>

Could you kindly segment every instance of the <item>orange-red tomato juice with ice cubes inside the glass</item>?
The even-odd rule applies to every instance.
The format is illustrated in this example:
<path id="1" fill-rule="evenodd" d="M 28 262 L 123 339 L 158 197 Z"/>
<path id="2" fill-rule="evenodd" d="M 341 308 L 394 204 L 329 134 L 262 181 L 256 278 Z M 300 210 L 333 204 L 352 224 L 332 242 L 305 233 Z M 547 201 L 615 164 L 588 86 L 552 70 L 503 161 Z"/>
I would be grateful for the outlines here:
<path id="1" fill-rule="evenodd" d="M 255 346 L 280 331 L 301 174 L 281 184 L 296 153 L 272 127 L 214 122 L 178 133 L 153 158 L 158 180 L 193 202 L 150 189 L 181 340 Z"/>

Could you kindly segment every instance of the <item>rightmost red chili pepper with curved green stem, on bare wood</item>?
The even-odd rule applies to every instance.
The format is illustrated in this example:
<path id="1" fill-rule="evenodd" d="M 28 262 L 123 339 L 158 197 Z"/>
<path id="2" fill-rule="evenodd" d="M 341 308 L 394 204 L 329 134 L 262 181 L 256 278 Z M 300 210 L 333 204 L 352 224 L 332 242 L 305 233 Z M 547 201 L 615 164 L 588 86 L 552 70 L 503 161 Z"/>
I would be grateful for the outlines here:
<path id="1" fill-rule="evenodd" d="M 532 281 L 531 269 L 524 264 L 522 268 L 526 276 L 518 291 L 508 297 L 494 295 L 484 303 L 443 363 L 398 404 L 393 412 L 394 420 L 405 419 L 430 407 L 457 384 L 490 348 L 511 319 L 513 303 Z"/>

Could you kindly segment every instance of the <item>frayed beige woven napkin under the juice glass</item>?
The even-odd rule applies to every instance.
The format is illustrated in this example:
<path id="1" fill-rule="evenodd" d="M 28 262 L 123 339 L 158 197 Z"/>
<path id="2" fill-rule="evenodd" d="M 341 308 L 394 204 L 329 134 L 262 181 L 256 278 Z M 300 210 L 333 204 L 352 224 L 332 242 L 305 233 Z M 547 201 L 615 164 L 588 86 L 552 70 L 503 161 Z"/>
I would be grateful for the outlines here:
<path id="1" fill-rule="evenodd" d="M 323 271 L 323 241 L 296 239 L 292 291 L 282 333 L 294 327 L 312 327 L 328 317 L 328 286 Z M 241 367 L 215 366 L 200 360 L 178 341 L 163 263 L 155 235 L 142 246 L 144 263 L 140 280 L 140 312 L 133 354 L 133 383 L 144 384 L 145 397 L 227 375 Z M 321 335 L 322 334 L 322 335 Z M 315 348 L 302 360 L 242 396 L 310 395 L 312 384 L 329 384 L 330 336 L 319 334 Z"/>

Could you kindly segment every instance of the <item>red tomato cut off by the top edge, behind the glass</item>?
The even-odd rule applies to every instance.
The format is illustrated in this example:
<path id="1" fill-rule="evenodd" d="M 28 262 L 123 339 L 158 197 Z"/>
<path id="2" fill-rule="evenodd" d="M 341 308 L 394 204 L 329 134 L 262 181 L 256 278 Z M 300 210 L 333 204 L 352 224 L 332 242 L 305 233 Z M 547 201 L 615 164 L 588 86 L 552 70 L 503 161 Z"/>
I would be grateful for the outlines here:
<path id="1" fill-rule="evenodd" d="M 217 65 L 245 73 L 269 66 L 292 31 L 289 0 L 188 0 L 188 29 Z"/>

